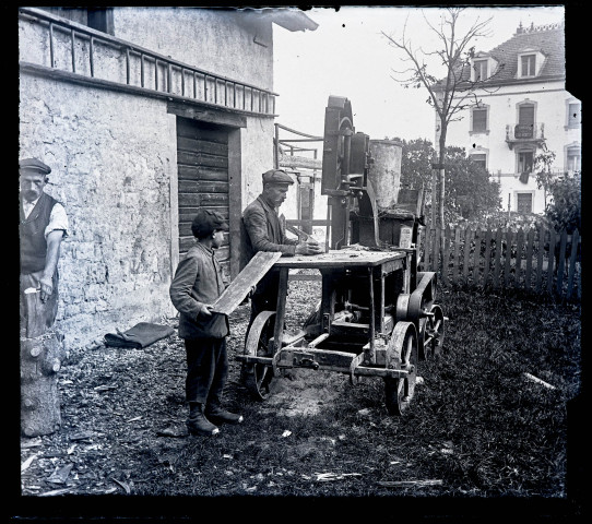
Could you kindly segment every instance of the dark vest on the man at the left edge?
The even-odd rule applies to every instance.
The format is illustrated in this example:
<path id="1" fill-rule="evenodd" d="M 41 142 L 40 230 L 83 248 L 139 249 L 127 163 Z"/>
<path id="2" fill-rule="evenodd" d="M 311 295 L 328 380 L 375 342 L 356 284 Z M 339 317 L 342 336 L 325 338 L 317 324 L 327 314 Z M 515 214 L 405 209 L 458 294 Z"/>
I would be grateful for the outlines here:
<path id="1" fill-rule="evenodd" d="M 49 216 L 56 203 L 57 201 L 49 194 L 42 193 L 28 218 L 25 218 L 21 200 L 21 224 L 19 227 L 21 236 L 21 273 L 29 274 L 44 270 L 47 255 L 45 228 L 49 224 Z"/>

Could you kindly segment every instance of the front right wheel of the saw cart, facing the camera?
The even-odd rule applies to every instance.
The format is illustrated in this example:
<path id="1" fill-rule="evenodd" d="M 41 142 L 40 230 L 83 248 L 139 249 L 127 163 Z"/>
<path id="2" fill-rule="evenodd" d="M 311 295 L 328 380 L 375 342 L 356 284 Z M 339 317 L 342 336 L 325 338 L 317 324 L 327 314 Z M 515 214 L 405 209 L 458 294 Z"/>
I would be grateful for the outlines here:
<path id="1" fill-rule="evenodd" d="M 398 322 L 387 346 L 387 368 L 406 369 L 402 379 L 384 378 L 384 396 L 390 415 L 403 415 L 415 393 L 417 378 L 417 330 L 413 322 Z"/>

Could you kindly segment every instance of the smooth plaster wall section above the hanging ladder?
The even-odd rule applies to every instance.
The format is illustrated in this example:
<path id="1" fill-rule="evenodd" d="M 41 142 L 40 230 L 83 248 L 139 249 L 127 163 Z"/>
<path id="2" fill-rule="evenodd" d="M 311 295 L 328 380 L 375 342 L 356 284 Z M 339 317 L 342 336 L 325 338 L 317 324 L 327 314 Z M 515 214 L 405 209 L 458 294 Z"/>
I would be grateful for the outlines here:
<path id="1" fill-rule="evenodd" d="M 273 88 L 273 47 L 253 43 L 240 10 L 116 8 L 115 36 L 215 74 Z M 269 22 L 271 24 L 271 22 Z M 175 35 L 174 38 L 170 36 Z M 240 59 L 237 59 L 240 57 Z"/>

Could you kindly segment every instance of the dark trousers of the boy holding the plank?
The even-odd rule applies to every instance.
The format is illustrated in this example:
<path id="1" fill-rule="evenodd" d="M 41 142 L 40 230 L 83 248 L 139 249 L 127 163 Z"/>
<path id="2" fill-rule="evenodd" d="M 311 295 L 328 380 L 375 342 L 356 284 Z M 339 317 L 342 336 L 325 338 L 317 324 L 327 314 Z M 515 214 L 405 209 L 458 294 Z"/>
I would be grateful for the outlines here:
<path id="1" fill-rule="evenodd" d="M 185 338 L 187 402 L 220 405 L 228 378 L 226 338 Z"/>

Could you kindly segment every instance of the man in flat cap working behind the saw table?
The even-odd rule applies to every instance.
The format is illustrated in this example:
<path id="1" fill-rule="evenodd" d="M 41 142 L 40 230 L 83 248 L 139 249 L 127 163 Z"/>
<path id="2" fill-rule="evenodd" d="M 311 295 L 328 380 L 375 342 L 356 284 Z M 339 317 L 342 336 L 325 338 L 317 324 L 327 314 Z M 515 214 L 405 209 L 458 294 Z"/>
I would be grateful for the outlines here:
<path id="1" fill-rule="evenodd" d="M 242 212 L 248 260 L 258 251 L 280 251 L 282 257 L 322 252 L 321 247 L 313 239 L 299 241 L 289 239 L 285 235 L 284 216 L 277 215 L 277 209 L 286 200 L 288 188 L 294 183 L 291 176 L 283 169 L 270 169 L 262 177 L 263 192 Z M 261 311 L 275 310 L 279 288 L 280 276 L 273 270 L 259 282 L 251 295 L 251 318 L 247 335 Z"/>

